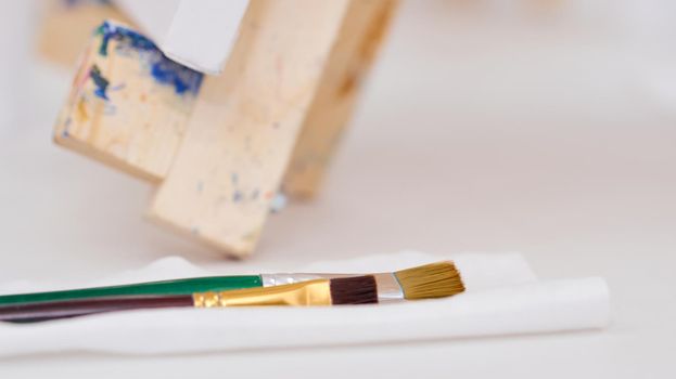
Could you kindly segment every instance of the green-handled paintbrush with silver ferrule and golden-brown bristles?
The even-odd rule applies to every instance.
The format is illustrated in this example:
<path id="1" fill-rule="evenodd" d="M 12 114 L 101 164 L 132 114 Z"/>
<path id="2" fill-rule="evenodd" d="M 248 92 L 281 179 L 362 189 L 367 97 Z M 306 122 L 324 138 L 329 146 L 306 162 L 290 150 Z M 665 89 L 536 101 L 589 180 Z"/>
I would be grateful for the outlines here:
<path id="1" fill-rule="evenodd" d="M 48 292 L 0 296 L 0 305 L 56 300 L 75 300 L 112 296 L 189 295 L 255 287 L 273 287 L 320 278 L 349 277 L 362 274 L 260 274 L 239 276 L 207 276 L 174 280 L 136 283 L 120 286 L 91 287 Z M 372 274 L 378 283 L 381 302 L 441 298 L 464 290 L 454 262 L 444 261 L 392 273 Z"/>

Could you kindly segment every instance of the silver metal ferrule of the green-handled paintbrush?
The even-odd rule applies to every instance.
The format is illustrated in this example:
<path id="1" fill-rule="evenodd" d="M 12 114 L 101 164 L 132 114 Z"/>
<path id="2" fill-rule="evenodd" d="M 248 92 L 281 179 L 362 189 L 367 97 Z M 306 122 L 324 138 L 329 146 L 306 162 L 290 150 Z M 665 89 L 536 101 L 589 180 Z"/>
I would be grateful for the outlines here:
<path id="1" fill-rule="evenodd" d="M 316 279 L 334 279 L 339 277 L 353 277 L 366 274 L 260 274 L 263 279 L 263 287 L 273 287 L 294 283 L 303 283 L 307 280 Z M 399 285 L 396 276 L 393 273 L 379 273 L 371 274 L 375 277 L 375 284 L 378 286 L 378 301 L 379 302 L 393 302 L 401 301 L 404 298 L 404 290 Z"/>

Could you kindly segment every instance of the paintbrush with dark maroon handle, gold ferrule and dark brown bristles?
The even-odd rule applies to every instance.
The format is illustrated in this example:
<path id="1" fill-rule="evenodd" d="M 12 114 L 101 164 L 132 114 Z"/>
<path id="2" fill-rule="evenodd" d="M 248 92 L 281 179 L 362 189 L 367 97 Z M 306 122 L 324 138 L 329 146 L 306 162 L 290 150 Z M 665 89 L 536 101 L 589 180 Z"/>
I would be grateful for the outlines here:
<path id="1" fill-rule="evenodd" d="M 372 275 L 315 279 L 275 287 L 154 297 L 106 297 L 0 306 L 0 321 L 36 323 L 90 314 L 165 308 L 344 305 L 378 303 Z"/>

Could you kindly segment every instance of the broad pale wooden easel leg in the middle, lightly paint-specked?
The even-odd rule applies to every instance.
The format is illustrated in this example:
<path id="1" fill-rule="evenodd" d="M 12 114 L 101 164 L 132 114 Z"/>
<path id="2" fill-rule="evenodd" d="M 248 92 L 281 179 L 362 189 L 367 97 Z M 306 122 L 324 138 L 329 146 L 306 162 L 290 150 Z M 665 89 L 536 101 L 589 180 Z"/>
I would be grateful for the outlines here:
<path id="1" fill-rule="evenodd" d="M 252 252 L 356 2 L 251 2 L 224 74 L 204 82 L 154 219 L 232 256 Z"/>

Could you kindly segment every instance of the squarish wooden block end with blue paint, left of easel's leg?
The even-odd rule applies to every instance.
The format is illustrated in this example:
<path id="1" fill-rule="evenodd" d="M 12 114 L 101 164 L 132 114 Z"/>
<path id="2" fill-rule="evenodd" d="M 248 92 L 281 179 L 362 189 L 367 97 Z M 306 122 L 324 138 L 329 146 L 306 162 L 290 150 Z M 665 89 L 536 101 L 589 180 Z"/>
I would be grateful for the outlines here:
<path id="1" fill-rule="evenodd" d="M 54 140 L 158 182 L 171 165 L 196 96 L 196 90 L 178 87 L 177 80 L 197 86 L 202 75 L 170 62 L 125 26 L 103 26 L 107 29 L 91 38 L 82 55 Z"/>

